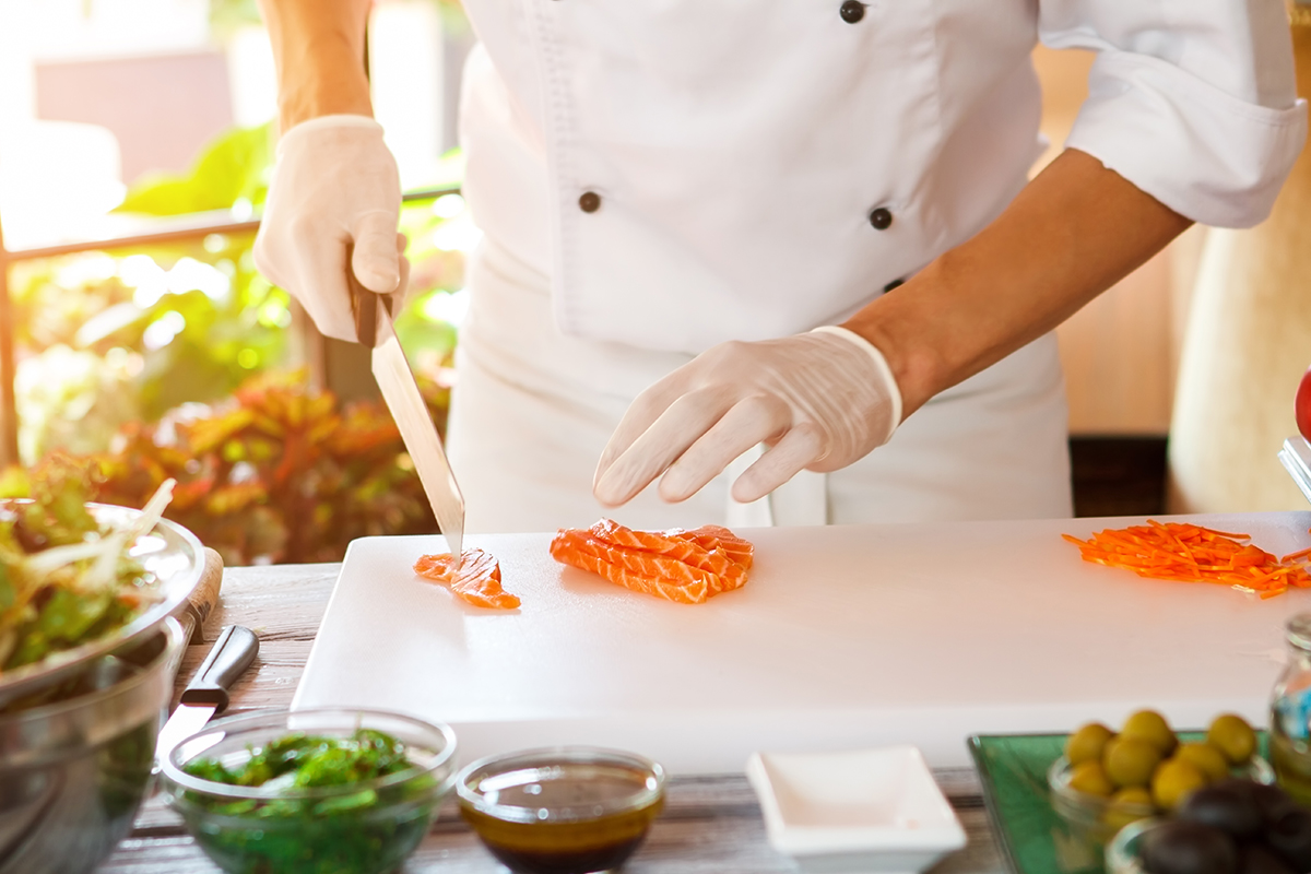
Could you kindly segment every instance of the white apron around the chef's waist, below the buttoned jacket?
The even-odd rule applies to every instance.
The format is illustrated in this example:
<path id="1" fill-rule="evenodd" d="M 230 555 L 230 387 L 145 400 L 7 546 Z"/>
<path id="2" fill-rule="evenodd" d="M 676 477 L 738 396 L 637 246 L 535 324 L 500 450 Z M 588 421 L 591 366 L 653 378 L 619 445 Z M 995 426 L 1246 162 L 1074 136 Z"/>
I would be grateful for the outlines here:
<path id="1" fill-rule="evenodd" d="M 600 451 L 633 397 L 691 356 L 561 333 L 547 276 L 485 241 L 456 349 L 447 449 L 469 532 L 1029 519 L 1071 514 L 1066 404 L 1055 338 L 1042 337 L 924 405 L 891 442 L 829 474 L 802 472 L 743 507 L 728 476 L 683 503 L 646 489 L 591 497 Z M 741 465 L 739 465 L 741 466 Z"/>

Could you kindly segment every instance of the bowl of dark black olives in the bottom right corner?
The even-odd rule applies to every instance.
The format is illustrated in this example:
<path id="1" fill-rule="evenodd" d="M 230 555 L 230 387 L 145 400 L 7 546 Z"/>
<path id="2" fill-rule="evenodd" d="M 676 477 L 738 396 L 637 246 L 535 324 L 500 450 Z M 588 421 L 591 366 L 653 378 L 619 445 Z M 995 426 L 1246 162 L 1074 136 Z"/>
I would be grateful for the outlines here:
<path id="1" fill-rule="evenodd" d="M 1298 874 L 1311 870 L 1311 811 L 1278 786 L 1230 777 L 1173 814 L 1121 829 L 1106 845 L 1112 874 Z"/>

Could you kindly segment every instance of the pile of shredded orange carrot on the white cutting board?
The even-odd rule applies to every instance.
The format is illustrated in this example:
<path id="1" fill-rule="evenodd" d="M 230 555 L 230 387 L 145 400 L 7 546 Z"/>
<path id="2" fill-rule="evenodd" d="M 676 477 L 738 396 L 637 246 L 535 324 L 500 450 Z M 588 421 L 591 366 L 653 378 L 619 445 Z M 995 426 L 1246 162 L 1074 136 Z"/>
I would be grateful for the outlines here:
<path id="1" fill-rule="evenodd" d="M 1061 536 L 1079 546 L 1084 561 L 1124 567 L 1139 577 L 1219 583 L 1262 600 L 1290 587 L 1311 588 L 1311 549 L 1276 558 L 1248 542 L 1249 535 L 1148 519 L 1146 525 L 1106 528 L 1088 540 Z"/>

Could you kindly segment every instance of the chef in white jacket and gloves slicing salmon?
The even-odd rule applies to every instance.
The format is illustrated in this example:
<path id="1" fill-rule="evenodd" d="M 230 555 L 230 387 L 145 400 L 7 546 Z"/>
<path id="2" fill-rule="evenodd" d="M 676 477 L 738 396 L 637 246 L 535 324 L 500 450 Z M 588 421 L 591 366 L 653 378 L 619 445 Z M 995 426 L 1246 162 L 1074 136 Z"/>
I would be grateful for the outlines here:
<path id="1" fill-rule="evenodd" d="M 469 531 L 1065 516 L 1053 329 L 1306 136 L 1281 0 L 465 0 Z M 404 290 L 368 0 L 264 0 L 256 261 L 353 339 Z M 1030 51 L 1096 51 L 1034 178 Z"/>

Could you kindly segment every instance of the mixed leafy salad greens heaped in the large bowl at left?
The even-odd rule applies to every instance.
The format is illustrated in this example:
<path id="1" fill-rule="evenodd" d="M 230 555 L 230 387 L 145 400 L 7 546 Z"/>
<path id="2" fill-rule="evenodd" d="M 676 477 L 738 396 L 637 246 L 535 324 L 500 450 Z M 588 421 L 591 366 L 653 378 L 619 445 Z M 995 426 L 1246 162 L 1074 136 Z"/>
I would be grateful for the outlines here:
<path id="1" fill-rule="evenodd" d="M 30 503 L 0 504 L 0 671 L 109 634 L 156 599 L 128 548 L 159 522 L 172 486 L 122 529 L 96 522 L 72 466 L 37 484 Z"/>

